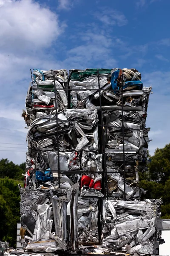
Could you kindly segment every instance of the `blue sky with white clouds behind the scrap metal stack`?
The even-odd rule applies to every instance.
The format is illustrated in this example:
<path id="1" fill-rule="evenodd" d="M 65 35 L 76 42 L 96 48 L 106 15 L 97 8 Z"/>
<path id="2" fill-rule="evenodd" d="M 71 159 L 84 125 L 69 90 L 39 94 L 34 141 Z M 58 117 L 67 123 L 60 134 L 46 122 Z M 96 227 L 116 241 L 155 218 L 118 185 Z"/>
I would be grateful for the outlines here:
<path id="1" fill-rule="evenodd" d="M 153 87 L 149 151 L 170 143 L 169 10 L 169 0 L 0 0 L 0 159 L 26 159 L 30 68 L 138 69 Z"/>

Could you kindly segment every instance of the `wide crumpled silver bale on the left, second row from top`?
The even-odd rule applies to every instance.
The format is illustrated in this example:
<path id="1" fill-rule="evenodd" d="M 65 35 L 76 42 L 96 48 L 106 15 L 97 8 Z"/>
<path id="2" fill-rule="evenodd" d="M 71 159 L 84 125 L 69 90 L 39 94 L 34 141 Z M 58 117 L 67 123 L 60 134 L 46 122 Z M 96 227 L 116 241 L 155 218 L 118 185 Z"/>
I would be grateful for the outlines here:
<path id="1" fill-rule="evenodd" d="M 98 151 L 97 110 L 68 109 L 57 114 L 59 151 Z M 68 121 L 68 122 L 67 122 Z M 72 121 L 72 122 L 71 122 Z M 82 124 L 83 123 L 83 124 Z M 28 129 L 28 148 L 35 151 L 57 150 L 56 114 L 40 116 Z"/>

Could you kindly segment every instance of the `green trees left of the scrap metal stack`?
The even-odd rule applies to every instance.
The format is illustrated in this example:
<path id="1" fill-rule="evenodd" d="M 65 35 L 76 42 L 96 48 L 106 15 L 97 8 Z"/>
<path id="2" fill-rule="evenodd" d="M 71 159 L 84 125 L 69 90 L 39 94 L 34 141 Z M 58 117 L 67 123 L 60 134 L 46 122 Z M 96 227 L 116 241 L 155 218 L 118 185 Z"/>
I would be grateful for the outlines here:
<path id="1" fill-rule="evenodd" d="M 16 246 L 17 222 L 20 222 L 20 190 L 26 163 L 20 166 L 8 159 L 0 160 L 0 240 Z"/>

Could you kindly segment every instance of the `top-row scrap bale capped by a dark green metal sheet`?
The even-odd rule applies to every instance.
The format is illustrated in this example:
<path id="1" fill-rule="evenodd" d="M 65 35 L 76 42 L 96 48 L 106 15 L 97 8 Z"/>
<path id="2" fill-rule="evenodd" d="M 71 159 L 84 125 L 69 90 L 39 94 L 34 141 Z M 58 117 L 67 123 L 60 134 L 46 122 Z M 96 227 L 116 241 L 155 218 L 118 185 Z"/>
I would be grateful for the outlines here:
<path id="1" fill-rule="evenodd" d="M 97 108 L 99 107 L 99 82 L 100 88 L 111 87 L 111 70 L 99 69 L 99 82 L 97 69 L 70 70 L 71 107 Z M 101 91 L 105 96 L 106 91 Z M 106 98 L 102 95 L 102 102 Z"/>

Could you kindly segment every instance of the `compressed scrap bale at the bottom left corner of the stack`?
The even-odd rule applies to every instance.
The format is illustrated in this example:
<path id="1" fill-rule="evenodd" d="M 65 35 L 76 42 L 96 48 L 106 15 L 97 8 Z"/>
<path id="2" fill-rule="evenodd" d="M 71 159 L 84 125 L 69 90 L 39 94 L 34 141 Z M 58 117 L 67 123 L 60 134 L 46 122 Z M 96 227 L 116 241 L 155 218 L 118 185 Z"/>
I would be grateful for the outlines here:
<path id="1" fill-rule="evenodd" d="M 21 225 L 26 250 L 34 252 L 74 251 L 77 243 L 78 184 L 70 189 L 25 189 L 20 187 Z M 71 227 L 74 232 L 71 231 Z"/>

